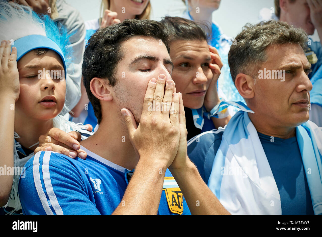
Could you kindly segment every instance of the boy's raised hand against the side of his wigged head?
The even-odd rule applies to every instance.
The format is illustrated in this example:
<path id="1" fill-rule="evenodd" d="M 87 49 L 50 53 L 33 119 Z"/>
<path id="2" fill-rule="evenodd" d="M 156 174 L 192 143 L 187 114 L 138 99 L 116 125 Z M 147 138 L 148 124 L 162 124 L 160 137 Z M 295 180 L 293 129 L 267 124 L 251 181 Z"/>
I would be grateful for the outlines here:
<path id="1" fill-rule="evenodd" d="M 0 58 L 0 95 L 11 97 L 17 102 L 20 90 L 17 48 L 12 47 L 11 50 L 10 41 L 3 40 L 0 45 Z"/>

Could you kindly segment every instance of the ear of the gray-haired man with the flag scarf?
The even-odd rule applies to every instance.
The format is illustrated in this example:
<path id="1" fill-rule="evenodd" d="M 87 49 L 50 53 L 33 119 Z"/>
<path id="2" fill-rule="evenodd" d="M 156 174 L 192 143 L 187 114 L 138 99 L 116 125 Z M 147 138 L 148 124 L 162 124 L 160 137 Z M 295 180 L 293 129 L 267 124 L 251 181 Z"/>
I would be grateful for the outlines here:
<path id="1" fill-rule="evenodd" d="M 236 76 L 235 86 L 239 94 L 245 99 L 254 97 L 254 79 L 244 73 L 239 73 Z"/>

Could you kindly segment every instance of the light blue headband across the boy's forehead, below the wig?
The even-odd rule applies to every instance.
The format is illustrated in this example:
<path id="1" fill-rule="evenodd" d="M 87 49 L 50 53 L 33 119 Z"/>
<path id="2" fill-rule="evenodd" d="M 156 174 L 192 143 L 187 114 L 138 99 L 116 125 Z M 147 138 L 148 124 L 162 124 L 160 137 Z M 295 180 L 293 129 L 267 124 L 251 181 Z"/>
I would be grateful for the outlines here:
<path id="1" fill-rule="evenodd" d="M 45 48 L 45 49 L 50 49 L 55 51 L 62 58 L 62 63 L 65 71 L 65 80 L 66 80 L 67 70 L 66 70 L 66 62 L 65 62 L 64 55 L 60 47 L 51 39 L 43 35 L 31 34 L 15 40 L 12 47 L 17 48 L 17 62 L 27 52 L 30 52 L 34 49 Z"/>

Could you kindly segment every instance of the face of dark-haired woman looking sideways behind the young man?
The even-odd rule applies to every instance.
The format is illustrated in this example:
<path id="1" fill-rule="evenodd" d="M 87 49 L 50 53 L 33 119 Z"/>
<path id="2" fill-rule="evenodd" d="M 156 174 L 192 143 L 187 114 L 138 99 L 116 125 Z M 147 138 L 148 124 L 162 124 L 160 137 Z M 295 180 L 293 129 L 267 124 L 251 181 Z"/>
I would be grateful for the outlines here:
<path id="1" fill-rule="evenodd" d="M 175 40 L 170 44 L 170 57 L 175 65 L 172 80 L 177 92 L 182 93 L 184 106 L 201 108 L 213 78 L 209 68 L 211 56 L 207 42 Z"/>

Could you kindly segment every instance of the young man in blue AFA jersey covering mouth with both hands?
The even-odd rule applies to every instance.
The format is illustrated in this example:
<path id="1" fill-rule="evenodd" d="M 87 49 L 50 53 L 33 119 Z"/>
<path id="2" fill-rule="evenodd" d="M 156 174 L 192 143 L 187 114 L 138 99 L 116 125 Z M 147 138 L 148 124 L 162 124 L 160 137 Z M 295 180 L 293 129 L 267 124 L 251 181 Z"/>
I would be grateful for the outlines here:
<path id="1" fill-rule="evenodd" d="M 80 142 L 85 160 L 40 151 L 26 163 L 23 212 L 229 214 L 187 157 L 172 70 L 161 23 L 125 20 L 94 33 L 82 71 L 99 128 Z"/>

